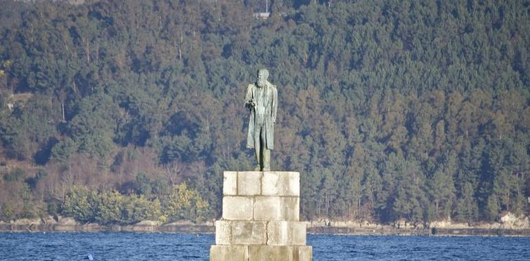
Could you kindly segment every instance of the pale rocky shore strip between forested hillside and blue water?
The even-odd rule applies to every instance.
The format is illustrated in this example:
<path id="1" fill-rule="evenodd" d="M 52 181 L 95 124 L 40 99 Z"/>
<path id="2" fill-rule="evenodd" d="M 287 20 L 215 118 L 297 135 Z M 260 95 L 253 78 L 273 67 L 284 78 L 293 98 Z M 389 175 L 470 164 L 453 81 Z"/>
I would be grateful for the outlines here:
<path id="1" fill-rule="evenodd" d="M 399 220 L 382 225 L 357 220 L 315 220 L 307 222 L 309 234 L 344 234 L 363 236 L 530 236 L 530 222 L 527 216 L 517 217 L 505 214 L 498 223 L 454 223 L 443 220 L 428 224 L 407 223 Z M 9 223 L 0 221 L 0 231 L 13 232 L 160 232 L 160 233 L 214 233 L 213 222 L 192 223 L 179 221 L 161 224 L 158 221 L 144 220 L 133 225 L 82 224 L 73 218 L 50 217 L 41 219 L 21 219 Z"/>

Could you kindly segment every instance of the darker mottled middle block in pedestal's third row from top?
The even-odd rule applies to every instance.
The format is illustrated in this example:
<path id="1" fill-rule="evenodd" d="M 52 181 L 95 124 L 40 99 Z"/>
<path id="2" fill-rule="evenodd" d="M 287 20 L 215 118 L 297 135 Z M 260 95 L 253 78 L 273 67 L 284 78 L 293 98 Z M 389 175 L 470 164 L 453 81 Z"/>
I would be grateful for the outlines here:
<path id="1" fill-rule="evenodd" d="M 233 221 L 232 244 L 265 245 L 267 240 L 265 221 Z"/>

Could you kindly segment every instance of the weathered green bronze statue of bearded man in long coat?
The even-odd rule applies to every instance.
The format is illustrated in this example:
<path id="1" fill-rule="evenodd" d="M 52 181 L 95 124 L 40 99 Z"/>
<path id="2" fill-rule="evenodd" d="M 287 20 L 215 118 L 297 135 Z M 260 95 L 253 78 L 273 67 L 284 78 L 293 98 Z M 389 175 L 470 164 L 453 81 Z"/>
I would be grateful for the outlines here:
<path id="1" fill-rule="evenodd" d="M 255 171 L 271 170 L 271 150 L 274 149 L 274 124 L 278 106 L 278 91 L 268 82 L 267 69 L 257 71 L 257 82 L 248 84 L 245 107 L 250 109 L 246 147 L 254 148 Z"/>

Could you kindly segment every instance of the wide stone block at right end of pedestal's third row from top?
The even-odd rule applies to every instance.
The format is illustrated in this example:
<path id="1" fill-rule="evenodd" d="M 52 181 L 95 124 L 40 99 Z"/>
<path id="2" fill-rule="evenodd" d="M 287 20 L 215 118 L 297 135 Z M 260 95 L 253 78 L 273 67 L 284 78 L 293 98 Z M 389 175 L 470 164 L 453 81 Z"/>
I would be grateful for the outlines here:
<path id="1" fill-rule="evenodd" d="M 306 223 L 284 220 L 269 222 L 267 245 L 306 245 Z"/>

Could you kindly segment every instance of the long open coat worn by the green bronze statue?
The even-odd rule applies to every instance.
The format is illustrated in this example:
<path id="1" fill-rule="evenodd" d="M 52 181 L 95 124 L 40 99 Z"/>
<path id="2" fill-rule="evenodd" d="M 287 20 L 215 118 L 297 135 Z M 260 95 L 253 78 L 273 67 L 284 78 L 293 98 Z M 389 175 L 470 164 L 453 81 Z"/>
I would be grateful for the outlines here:
<path id="1" fill-rule="evenodd" d="M 255 109 L 250 106 L 251 101 L 256 101 L 257 84 L 248 84 L 245 95 L 245 106 L 251 111 L 251 117 L 248 120 L 248 135 L 246 137 L 246 148 L 254 148 L 254 137 L 256 131 L 256 113 Z M 275 85 L 271 82 L 266 82 L 264 89 L 264 102 L 265 102 L 265 119 L 264 119 L 264 131 L 265 131 L 265 146 L 269 150 L 274 149 L 274 124 L 276 122 L 276 110 L 278 107 L 278 91 Z M 258 130 L 259 131 L 259 130 Z M 259 142 L 259 141 L 258 141 Z"/>

